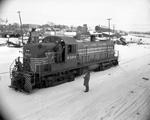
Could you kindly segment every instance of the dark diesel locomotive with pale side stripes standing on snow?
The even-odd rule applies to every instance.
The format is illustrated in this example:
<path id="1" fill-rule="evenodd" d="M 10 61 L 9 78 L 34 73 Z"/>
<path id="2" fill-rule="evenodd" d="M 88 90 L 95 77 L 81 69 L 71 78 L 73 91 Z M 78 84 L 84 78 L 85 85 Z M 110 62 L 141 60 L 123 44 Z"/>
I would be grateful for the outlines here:
<path id="1" fill-rule="evenodd" d="M 117 53 L 117 54 L 116 54 Z M 111 40 L 78 42 L 72 37 L 47 36 L 23 46 L 23 57 L 10 67 L 12 88 L 31 92 L 35 88 L 73 81 L 84 70 L 102 70 L 118 64 Z"/>

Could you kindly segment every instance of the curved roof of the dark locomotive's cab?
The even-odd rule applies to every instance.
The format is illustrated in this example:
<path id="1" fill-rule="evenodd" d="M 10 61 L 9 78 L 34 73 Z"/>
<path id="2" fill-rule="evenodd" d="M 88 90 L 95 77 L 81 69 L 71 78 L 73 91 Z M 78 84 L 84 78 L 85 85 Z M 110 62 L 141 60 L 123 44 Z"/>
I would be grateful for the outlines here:
<path id="1" fill-rule="evenodd" d="M 68 36 L 47 36 L 42 40 L 43 43 L 59 43 L 62 41 L 65 42 L 65 44 L 77 44 L 75 38 Z"/>

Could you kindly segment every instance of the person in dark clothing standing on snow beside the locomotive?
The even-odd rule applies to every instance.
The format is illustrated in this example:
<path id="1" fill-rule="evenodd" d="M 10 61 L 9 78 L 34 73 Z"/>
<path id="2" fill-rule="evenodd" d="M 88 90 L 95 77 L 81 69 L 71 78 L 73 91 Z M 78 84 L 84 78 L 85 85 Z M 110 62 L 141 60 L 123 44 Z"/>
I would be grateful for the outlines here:
<path id="1" fill-rule="evenodd" d="M 86 88 L 84 92 L 89 91 L 89 80 L 90 80 L 90 71 L 88 70 L 84 76 L 84 86 Z"/>

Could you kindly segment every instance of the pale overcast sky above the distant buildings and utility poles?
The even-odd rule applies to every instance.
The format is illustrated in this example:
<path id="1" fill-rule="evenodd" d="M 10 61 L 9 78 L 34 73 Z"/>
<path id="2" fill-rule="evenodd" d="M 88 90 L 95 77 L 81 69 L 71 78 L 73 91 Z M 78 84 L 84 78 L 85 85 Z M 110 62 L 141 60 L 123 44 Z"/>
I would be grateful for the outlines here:
<path id="1" fill-rule="evenodd" d="M 9 23 L 105 25 L 116 29 L 150 31 L 150 0 L 6 0 L 0 17 Z"/>

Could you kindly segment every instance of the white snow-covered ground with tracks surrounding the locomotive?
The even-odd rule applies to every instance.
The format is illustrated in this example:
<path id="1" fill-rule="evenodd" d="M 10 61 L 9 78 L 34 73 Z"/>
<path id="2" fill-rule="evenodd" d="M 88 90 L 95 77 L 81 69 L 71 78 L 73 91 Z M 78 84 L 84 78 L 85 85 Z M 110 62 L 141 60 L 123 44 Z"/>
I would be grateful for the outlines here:
<path id="1" fill-rule="evenodd" d="M 150 45 L 115 48 L 120 53 L 119 65 L 92 72 L 88 93 L 83 92 L 80 76 L 26 95 L 8 88 L 7 72 L 20 49 L 0 47 L 0 107 L 10 120 L 148 120 Z"/>

